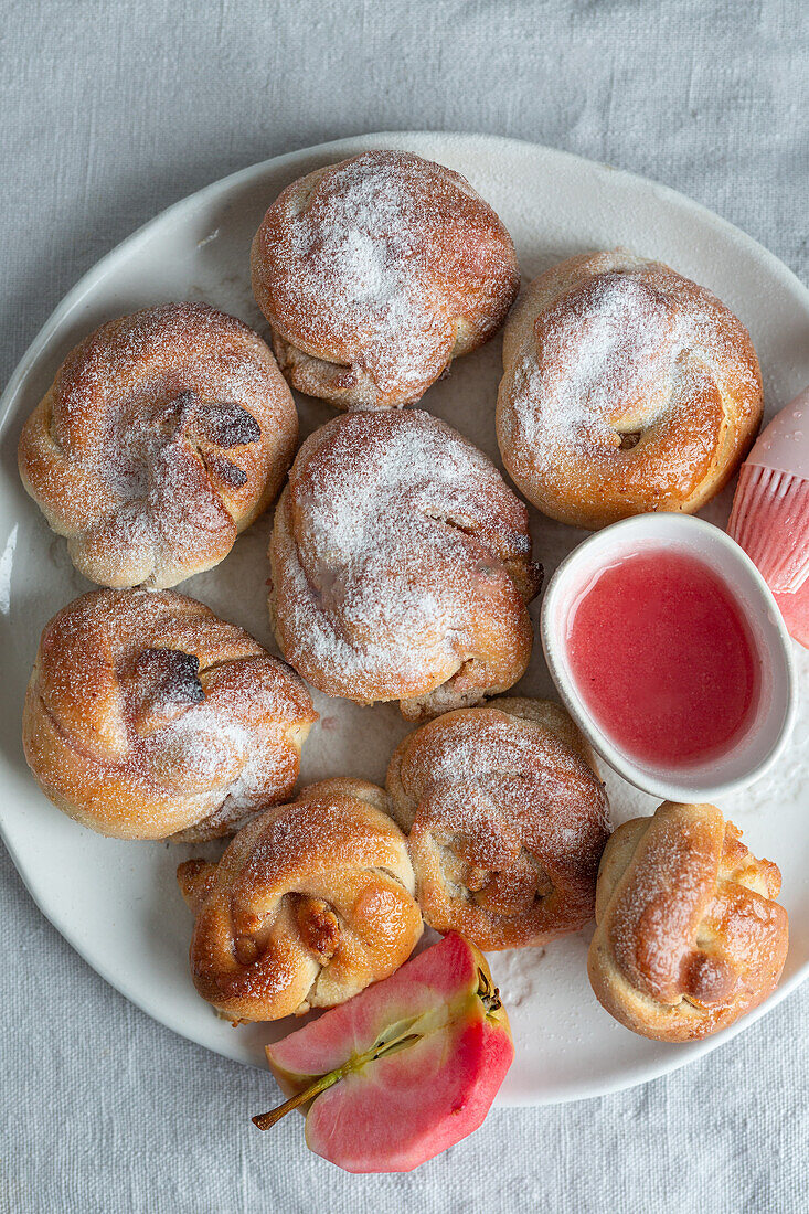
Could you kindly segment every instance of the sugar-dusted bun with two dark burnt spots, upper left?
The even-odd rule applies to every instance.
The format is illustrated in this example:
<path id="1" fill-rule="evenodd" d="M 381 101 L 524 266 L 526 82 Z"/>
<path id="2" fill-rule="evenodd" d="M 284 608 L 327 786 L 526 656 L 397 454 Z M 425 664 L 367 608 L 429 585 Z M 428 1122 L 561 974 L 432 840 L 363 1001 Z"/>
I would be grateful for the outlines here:
<path id="1" fill-rule="evenodd" d="M 163 304 L 70 351 L 26 422 L 19 473 L 80 573 L 160 589 L 227 556 L 296 439 L 258 334 L 205 304 Z"/>

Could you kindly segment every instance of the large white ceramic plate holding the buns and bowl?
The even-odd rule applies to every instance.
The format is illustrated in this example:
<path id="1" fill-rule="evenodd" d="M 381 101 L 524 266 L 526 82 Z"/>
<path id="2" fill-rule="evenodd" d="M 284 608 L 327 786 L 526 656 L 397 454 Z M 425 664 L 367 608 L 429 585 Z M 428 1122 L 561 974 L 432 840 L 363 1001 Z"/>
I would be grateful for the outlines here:
<path id="1" fill-rule="evenodd" d="M 23 358 L 2 401 L 4 484 L 0 487 L 0 626 L 4 697 L 0 753 L 6 845 L 36 903 L 79 953 L 123 994 L 157 1020 L 219 1054 L 264 1065 L 267 1026 L 232 1028 L 216 1019 L 191 985 L 186 953 L 191 918 L 174 880 L 193 849 L 103 839 L 61 815 L 28 775 L 19 742 L 23 692 L 43 625 L 89 589 L 64 541 L 52 535 L 24 494 L 16 469 L 23 419 L 80 337 L 109 317 L 162 300 L 200 299 L 266 333 L 250 294 L 250 239 L 266 206 L 293 178 L 372 147 L 409 148 L 464 174 L 514 237 L 525 278 L 587 249 L 624 244 L 658 257 L 712 288 L 748 325 L 763 370 L 769 412 L 809 382 L 809 294 L 771 254 L 729 223 L 669 189 L 550 148 L 475 135 L 369 135 L 268 160 L 199 191 L 152 220 L 98 262 L 60 305 Z M 446 418 L 497 458 L 494 398 L 499 340 L 460 359 L 430 388 L 423 407 Z M 299 401 L 304 433 L 333 416 Z M 729 495 L 708 517 L 724 523 Z M 265 517 L 217 569 L 181 589 L 265 645 Z M 551 573 L 582 533 L 532 511 L 536 554 Z M 532 606 L 534 622 L 538 602 Z M 796 647 L 797 648 L 797 647 Z M 805 688 L 808 654 L 798 656 Z M 537 639 L 517 691 L 551 694 Z M 381 781 L 387 756 L 406 732 L 392 707 L 358 708 L 316 696 L 321 721 L 304 751 L 304 781 L 355 775 Z M 607 773 L 616 824 L 654 801 Z M 809 731 L 803 713 L 792 745 L 774 773 L 723 809 L 759 855 L 783 872 L 790 957 L 777 995 L 809 970 Z M 199 849 L 196 849 L 197 851 Z M 595 1096 L 641 1083 L 718 1045 L 663 1045 L 622 1028 L 595 1002 L 584 959 L 589 931 L 542 949 L 492 954 L 505 997 L 517 1061 L 498 1097 L 537 1105 Z M 43 981 L 47 976 L 43 975 Z M 759 1011 L 759 1014 L 760 1014 Z M 749 1025 L 752 1016 L 736 1026 Z M 285 1028 L 287 1026 L 282 1026 Z M 277 1032 L 277 1026 L 273 1026 Z M 731 1032 L 734 1032 L 732 1029 Z"/>

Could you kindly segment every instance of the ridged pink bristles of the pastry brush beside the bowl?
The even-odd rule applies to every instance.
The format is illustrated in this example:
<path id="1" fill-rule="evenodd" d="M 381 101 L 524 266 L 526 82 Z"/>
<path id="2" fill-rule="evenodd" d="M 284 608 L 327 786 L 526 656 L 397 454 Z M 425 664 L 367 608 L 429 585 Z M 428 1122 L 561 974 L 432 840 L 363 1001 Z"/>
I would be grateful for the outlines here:
<path id="1" fill-rule="evenodd" d="M 809 577 L 809 481 L 742 465 L 728 533 L 773 591 L 793 594 Z"/>

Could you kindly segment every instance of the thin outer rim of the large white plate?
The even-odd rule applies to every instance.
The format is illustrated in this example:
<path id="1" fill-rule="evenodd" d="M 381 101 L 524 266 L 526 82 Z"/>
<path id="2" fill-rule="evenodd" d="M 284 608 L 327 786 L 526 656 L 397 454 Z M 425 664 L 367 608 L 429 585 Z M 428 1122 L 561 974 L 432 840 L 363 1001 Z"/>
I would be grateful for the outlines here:
<path id="1" fill-rule="evenodd" d="M 131 253 L 153 227 L 169 220 L 175 212 L 179 214 L 182 210 L 191 209 L 196 203 L 204 204 L 209 197 L 227 193 L 231 188 L 239 187 L 262 176 L 262 174 L 270 171 L 270 169 L 285 169 L 311 157 L 339 153 L 341 151 L 345 152 L 363 143 L 369 146 L 379 144 L 384 147 L 385 141 L 394 141 L 396 144 L 406 144 L 411 140 L 448 140 L 456 144 L 474 144 L 477 148 L 480 148 L 481 143 L 483 143 L 493 147 L 494 149 L 508 148 L 510 152 L 515 152 L 517 154 L 520 152 L 527 152 L 533 155 L 539 153 L 554 160 L 565 160 L 568 163 L 576 163 L 579 166 L 583 165 L 589 172 L 596 172 L 596 175 L 604 175 L 605 177 L 617 175 L 630 186 L 640 187 L 645 191 L 651 189 L 661 199 L 666 199 L 667 203 L 688 211 L 692 216 L 697 216 L 707 227 L 731 237 L 734 242 L 741 244 L 742 248 L 746 248 L 751 255 L 758 260 L 768 262 L 774 276 L 783 283 L 787 289 L 797 291 L 797 294 L 804 297 L 807 313 L 809 314 L 809 288 L 802 283 L 798 276 L 783 261 L 781 261 L 780 257 L 766 249 L 765 245 L 751 237 L 742 228 L 731 223 L 729 220 L 725 220 L 715 211 L 712 211 L 703 203 L 690 198 L 688 194 L 683 194 L 672 186 L 667 186 L 651 177 L 646 177 L 643 174 L 632 172 L 627 169 L 618 169 L 605 161 L 593 160 L 587 157 L 578 155 L 575 152 L 550 147 L 549 144 L 534 143 L 531 140 L 511 138 L 503 135 L 446 130 L 367 131 L 338 140 L 328 140 L 322 143 L 295 148 L 290 152 L 283 152 L 279 155 L 267 157 L 265 160 L 237 169 L 234 172 L 219 177 L 215 181 L 202 186 L 199 189 L 192 191 L 189 194 L 170 203 L 163 210 L 158 211 L 155 215 L 141 223 L 129 236 L 124 237 L 124 239 L 118 242 L 118 244 L 108 249 L 107 253 L 104 253 L 87 271 L 85 271 L 84 274 L 81 274 L 67 294 L 62 296 L 30 344 L 27 346 L 17 365 L 11 373 L 11 376 L 0 395 L 0 438 L 4 442 L 7 441 L 7 425 L 19 391 L 23 387 L 28 374 L 33 370 L 40 357 L 46 352 L 53 333 L 57 330 L 62 319 L 81 302 L 81 300 L 98 282 L 106 277 L 111 270 L 111 263 L 121 254 Z M 349 154 L 357 153 L 350 152 Z M 2 766 L 1 762 L 0 766 Z M 132 1003 L 142 1012 L 149 1016 L 149 1019 L 157 1021 L 164 1028 L 176 1033 L 179 1037 L 185 1038 L 185 1040 L 191 1042 L 193 1045 L 207 1051 L 215 1053 L 209 1046 L 198 1042 L 189 1033 L 185 1032 L 181 1025 L 177 1025 L 176 1022 L 169 1023 L 168 1019 L 155 1015 L 149 1008 L 145 1006 L 141 998 L 128 989 L 125 974 L 123 980 L 119 975 L 113 977 L 106 965 L 97 965 L 94 960 L 90 960 L 87 952 L 80 941 L 77 940 L 75 934 L 72 932 L 69 926 L 66 930 L 60 923 L 56 921 L 53 915 L 45 909 L 38 895 L 32 889 L 26 869 L 22 866 L 17 851 L 9 836 L 6 830 L 6 812 L 2 804 L 0 804 L 0 838 L 2 838 L 4 845 L 32 901 L 39 912 L 56 929 L 56 931 L 58 931 L 62 938 L 66 940 L 67 943 L 79 954 L 79 957 L 81 957 L 81 959 L 96 974 L 98 974 L 100 977 L 102 977 L 109 986 L 118 991 L 119 994 Z M 617 1091 L 624 1091 L 629 1088 L 639 1087 L 641 1084 L 650 1083 L 654 1079 L 662 1078 L 663 1076 L 671 1074 L 673 1071 L 686 1066 L 689 1062 L 696 1062 L 706 1054 L 718 1049 L 726 1042 L 730 1042 L 737 1036 L 737 1033 L 743 1032 L 746 1028 L 756 1023 L 763 1015 L 765 1015 L 765 1012 L 774 1010 L 777 1004 L 787 998 L 787 995 L 800 986 L 808 977 L 809 959 L 807 959 L 802 966 L 790 975 L 788 978 L 782 981 L 773 994 L 764 1000 L 764 1003 L 759 1004 L 759 1006 L 753 1011 L 742 1016 L 729 1028 L 713 1037 L 703 1038 L 700 1042 L 669 1046 L 672 1049 L 672 1056 L 671 1059 L 664 1059 L 662 1062 L 655 1060 L 654 1062 L 633 1068 L 633 1071 L 626 1077 L 618 1076 L 612 1079 L 600 1080 L 598 1084 L 575 1082 L 568 1085 L 567 1090 L 548 1094 L 547 1096 L 511 1096 L 509 1097 L 508 1105 L 496 1102 L 496 1107 L 542 1107 L 558 1104 L 570 1104 L 577 1100 L 592 1100 L 599 1096 L 612 1095 Z M 228 1059 L 228 1061 L 231 1061 L 231 1059 Z"/>

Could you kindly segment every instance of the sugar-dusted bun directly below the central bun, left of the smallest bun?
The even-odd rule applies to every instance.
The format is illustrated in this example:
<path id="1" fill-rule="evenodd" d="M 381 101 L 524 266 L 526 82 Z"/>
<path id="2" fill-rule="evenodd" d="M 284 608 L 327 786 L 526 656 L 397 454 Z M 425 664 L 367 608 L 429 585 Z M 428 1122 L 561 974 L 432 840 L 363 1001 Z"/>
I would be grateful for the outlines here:
<path id="1" fill-rule="evenodd" d="M 607 800 L 567 713 L 498 699 L 423 725 L 387 770 L 426 923 L 525 948 L 593 918 Z"/>

